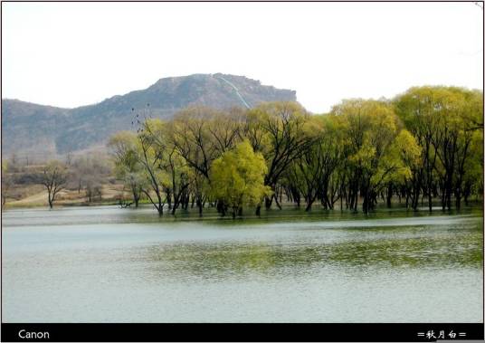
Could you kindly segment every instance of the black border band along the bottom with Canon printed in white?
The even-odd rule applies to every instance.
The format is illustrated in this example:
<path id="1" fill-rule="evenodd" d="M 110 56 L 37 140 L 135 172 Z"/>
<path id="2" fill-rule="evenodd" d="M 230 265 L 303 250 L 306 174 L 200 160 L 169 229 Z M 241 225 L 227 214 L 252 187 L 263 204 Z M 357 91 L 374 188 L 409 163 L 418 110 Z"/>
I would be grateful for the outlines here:
<path id="1" fill-rule="evenodd" d="M 21 330 L 24 330 L 21 332 Z M 433 336 L 426 337 L 433 331 Z M 27 332 L 48 332 L 49 338 L 26 338 Z M 449 336 L 454 333 L 455 337 Z M 482 323 L 290 323 L 290 324 L 19 324 L 2 323 L 2 341 L 131 342 L 131 341 L 375 341 L 430 342 L 481 340 Z M 423 334 L 423 335 L 422 335 Z M 24 338 L 21 338 L 23 336 Z M 42 336 L 42 335 L 39 335 Z M 434 337 L 434 338 L 433 338 Z"/>

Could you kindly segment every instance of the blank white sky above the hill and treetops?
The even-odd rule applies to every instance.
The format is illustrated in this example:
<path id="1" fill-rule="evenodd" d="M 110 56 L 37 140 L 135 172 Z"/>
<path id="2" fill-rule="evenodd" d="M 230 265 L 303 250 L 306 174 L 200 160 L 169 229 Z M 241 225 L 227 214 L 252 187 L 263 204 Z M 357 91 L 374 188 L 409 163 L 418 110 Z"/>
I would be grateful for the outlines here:
<path id="1" fill-rule="evenodd" d="M 76 107 L 192 73 L 297 91 L 314 112 L 414 85 L 482 89 L 469 3 L 3 3 L 2 97 Z"/>

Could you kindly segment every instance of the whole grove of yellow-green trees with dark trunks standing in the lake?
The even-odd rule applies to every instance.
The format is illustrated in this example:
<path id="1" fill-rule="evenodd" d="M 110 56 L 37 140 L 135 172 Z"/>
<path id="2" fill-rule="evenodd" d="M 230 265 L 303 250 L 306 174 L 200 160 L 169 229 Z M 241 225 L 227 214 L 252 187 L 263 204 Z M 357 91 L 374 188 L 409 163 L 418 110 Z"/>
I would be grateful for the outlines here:
<path id="1" fill-rule="evenodd" d="M 343 100 L 328 114 L 299 103 L 262 103 L 251 110 L 180 111 L 148 119 L 138 134 L 110 139 L 115 171 L 161 214 L 164 206 L 202 215 L 209 203 L 225 214 L 243 206 L 306 209 L 319 200 L 364 212 L 380 197 L 404 197 L 417 209 L 436 196 L 443 209 L 483 190 L 483 97 L 456 87 L 416 87 L 395 100 Z M 345 204 L 344 204 L 345 201 Z"/>

